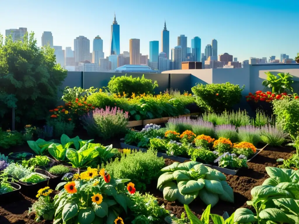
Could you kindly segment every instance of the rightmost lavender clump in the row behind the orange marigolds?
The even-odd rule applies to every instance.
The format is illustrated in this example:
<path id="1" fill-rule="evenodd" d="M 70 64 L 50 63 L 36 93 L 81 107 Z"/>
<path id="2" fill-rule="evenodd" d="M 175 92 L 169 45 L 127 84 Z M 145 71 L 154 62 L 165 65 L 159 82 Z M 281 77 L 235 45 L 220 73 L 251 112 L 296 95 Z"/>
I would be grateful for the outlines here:
<path id="1" fill-rule="evenodd" d="M 273 146 L 280 146 L 289 136 L 275 125 L 270 124 L 262 126 L 260 133 L 262 142 Z"/>

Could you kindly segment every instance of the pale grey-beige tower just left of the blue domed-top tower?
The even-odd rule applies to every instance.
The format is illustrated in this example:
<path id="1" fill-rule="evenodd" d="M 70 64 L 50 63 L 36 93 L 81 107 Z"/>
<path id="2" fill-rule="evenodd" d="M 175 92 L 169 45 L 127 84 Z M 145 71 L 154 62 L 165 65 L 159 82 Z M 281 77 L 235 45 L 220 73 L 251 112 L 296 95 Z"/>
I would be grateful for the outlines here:
<path id="1" fill-rule="evenodd" d="M 78 36 L 74 39 L 75 62 L 91 61 L 90 59 L 90 41 L 85 36 Z"/>

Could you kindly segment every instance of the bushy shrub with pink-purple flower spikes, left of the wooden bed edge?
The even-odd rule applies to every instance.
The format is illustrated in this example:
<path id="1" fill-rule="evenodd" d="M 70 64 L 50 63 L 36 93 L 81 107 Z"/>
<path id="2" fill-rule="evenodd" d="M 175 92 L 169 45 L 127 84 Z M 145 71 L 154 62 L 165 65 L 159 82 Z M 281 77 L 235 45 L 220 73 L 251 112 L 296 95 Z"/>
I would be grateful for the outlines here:
<path id="1" fill-rule="evenodd" d="M 111 110 L 110 107 L 106 107 L 106 109 L 96 108 L 88 115 L 83 116 L 81 121 L 88 134 L 109 139 L 126 133 L 128 119 L 128 112 L 123 113 L 123 110 L 116 107 Z"/>

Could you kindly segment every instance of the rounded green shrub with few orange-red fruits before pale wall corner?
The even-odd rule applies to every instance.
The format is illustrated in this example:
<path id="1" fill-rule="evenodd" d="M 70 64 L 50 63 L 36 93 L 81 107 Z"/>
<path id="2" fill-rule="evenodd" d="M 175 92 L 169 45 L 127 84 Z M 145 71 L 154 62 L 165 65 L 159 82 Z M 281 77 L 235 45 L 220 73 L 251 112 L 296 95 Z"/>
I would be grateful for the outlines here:
<path id="1" fill-rule="evenodd" d="M 242 88 L 229 82 L 222 84 L 199 84 L 192 87 L 192 92 L 196 96 L 196 102 L 209 112 L 222 112 L 229 110 L 233 105 L 240 102 L 242 98 Z"/>

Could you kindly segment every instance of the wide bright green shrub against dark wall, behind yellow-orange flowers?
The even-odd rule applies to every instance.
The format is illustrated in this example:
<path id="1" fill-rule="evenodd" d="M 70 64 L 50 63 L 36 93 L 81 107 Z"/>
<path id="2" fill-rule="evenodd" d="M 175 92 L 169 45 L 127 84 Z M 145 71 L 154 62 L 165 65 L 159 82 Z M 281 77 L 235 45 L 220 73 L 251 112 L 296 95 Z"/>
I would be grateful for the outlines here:
<path id="1" fill-rule="evenodd" d="M 137 95 L 146 93 L 153 94 L 154 89 L 158 87 L 157 81 L 152 83 L 151 79 L 142 77 L 133 78 L 132 76 L 113 76 L 108 83 L 108 89 L 110 93 L 123 93 L 127 96 L 132 96 L 132 93 Z"/>

